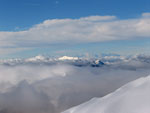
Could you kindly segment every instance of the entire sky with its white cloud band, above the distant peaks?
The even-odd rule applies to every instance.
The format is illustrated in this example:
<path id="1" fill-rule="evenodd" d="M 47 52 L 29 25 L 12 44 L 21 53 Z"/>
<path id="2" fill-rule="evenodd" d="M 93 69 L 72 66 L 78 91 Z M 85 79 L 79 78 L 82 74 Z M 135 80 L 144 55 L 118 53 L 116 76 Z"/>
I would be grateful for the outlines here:
<path id="1" fill-rule="evenodd" d="M 0 58 L 150 54 L 149 0 L 0 0 Z"/>

